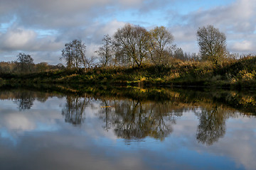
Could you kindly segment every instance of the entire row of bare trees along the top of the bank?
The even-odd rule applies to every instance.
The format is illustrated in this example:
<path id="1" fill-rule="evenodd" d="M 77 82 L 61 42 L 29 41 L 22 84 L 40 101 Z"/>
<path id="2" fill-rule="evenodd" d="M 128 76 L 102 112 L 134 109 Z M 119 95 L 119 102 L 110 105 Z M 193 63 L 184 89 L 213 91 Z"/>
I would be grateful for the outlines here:
<path id="1" fill-rule="evenodd" d="M 208 62 L 212 67 L 220 68 L 224 62 L 234 61 L 239 55 L 233 55 L 226 49 L 225 34 L 213 26 L 203 26 L 197 30 L 199 53 L 183 52 L 174 44 L 174 35 L 164 26 L 146 30 L 142 26 L 126 24 L 114 35 L 105 35 L 102 45 L 94 56 L 86 55 L 86 45 L 82 40 L 73 40 L 65 44 L 60 60 L 63 64 L 50 65 L 46 62 L 33 63 L 31 55 L 18 54 L 13 62 L 0 62 L 0 73 L 48 72 L 55 69 L 84 69 L 92 67 L 132 67 L 142 65 L 153 67 L 171 67 L 176 63 L 196 61 Z M 178 62 L 177 62 L 178 61 Z"/>

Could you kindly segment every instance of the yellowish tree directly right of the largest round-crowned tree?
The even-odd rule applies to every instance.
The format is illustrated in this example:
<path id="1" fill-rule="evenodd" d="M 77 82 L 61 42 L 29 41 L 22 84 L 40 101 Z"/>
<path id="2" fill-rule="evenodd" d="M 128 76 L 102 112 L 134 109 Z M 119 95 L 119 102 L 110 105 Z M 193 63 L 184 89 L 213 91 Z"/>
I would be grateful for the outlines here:
<path id="1" fill-rule="evenodd" d="M 156 65 L 165 65 L 171 50 L 174 36 L 164 26 L 150 30 L 151 61 Z"/>

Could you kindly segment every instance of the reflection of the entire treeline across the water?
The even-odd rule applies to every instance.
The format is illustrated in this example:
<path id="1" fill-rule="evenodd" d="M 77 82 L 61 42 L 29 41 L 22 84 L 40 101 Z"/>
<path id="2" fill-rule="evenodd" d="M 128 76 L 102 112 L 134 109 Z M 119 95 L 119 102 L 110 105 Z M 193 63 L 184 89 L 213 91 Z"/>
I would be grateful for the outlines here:
<path id="1" fill-rule="evenodd" d="M 1 98 L 7 95 L 4 93 L 0 94 Z M 202 144 L 213 145 L 225 135 L 225 121 L 235 113 L 232 109 L 225 109 L 221 104 L 210 101 L 211 98 L 202 98 L 201 91 L 198 93 L 189 91 L 189 93 L 184 93 L 186 94 L 184 96 L 184 94 L 170 90 L 152 89 L 144 93 L 144 90 L 134 89 L 134 91 L 129 91 L 129 94 L 124 91 L 124 94 L 131 98 L 92 97 L 87 94 L 83 94 L 83 97 L 68 95 L 65 96 L 66 103 L 62 109 L 62 115 L 66 123 L 80 125 L 85 120 L 85 108 L 95 108 L 93 103 L 96 100 L 100 101 L 101 108 L 97 116 L 104 122 L 102 125 L 104 130 L 113 129 L 117 137 L 127 140 L 142 139 L 148 136 L 164 140 L 173 131 L 172 125 L 176 124 L 176 119 L 181 117 L 183 112 L 197 107 L 195 101 L 199 101 L 201 109 L 195 113 L 199 119 L 196 139 Z M 14 98 L 20 111 L 30 109 L 36 99 L 45 102 L 50 96 L 50 94 L 33 91 L 15 91 L 8 95 Z M 206 96 L 209 95 L 206 94 Z M 213 96 L 215 100 L 216 98 L 223 100 L 223 95 L 217 97 L 214 94 Z M 165 98 L 165 100 L 149 101 L 146 98 Z"/>

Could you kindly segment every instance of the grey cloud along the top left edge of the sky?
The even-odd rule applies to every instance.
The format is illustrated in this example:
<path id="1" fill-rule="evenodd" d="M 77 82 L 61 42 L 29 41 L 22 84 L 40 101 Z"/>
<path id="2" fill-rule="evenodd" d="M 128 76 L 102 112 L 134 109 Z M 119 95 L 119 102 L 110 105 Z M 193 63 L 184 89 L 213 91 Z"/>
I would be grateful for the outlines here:
<path id="1" fill-rule="evenodd" d="M 142 4 L 140 1 L 114 0 L 14 0 L 14 3 L 4 2 L 2 8 L 9 8 L 18 18 L 21 26 L 32 28 L 74 28 L 89 25 L 100 16 L 112 16 L 120 8 L 132 8 Z M 15 5 L 14 5 L 15 4 Z M 112 7 L 112 8 L 109 8 Z"/>

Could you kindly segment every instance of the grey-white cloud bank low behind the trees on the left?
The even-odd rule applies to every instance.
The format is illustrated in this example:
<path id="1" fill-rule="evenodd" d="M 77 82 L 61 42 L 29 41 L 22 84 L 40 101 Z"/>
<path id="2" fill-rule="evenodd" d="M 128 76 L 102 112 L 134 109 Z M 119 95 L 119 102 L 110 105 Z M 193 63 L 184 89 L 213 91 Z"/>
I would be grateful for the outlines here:
<path id="1" fill-rule="evenodd" d="M 110 36 L 124 26 L 125 23 L 113 20 L 107 23 L 92 23 L 90 28 L 72 28 L 65 29 L 57 35 L 40 35 L 36 30 L 19 28 L 14 25 L 6 33 L 0 34 L 0 51 L 2 55 L 13 55 L 15 57 L 6 57 L 5 60 L 15 60 L 19 51 L 28 53 L 33 57 L 34 62 L 48 62 L 57 64 L 60 62 L 61 50 L 66 42 L 78 39 L 87 45 L 87 56 L 95 55 L 104 35 Z M 12 51 L 12 54 L 11 52 Z"/>

